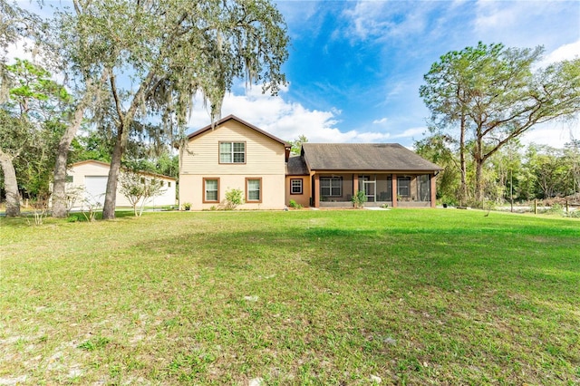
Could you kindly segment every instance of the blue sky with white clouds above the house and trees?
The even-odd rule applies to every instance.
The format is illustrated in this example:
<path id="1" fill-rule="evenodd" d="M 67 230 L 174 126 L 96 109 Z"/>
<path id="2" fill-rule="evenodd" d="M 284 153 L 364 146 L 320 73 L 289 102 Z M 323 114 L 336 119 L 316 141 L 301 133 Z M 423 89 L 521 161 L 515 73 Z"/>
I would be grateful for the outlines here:
<path id="1" fill-rule="evenodd" d="M 284 140 L 399 142 L 423 137 L 429 111 L 422 77 L 444 53 L 483 43 L 543 45 L 543 64 L 580 55 L 578 1 L 277 1 L 291 38 L 288 87 L 278 97 L 243 87 L 227 95 L 235 114 Z M 209 122 L 194 111 L 190 124 Z M 524 139 L 562 146 L 578 121 Z"/>

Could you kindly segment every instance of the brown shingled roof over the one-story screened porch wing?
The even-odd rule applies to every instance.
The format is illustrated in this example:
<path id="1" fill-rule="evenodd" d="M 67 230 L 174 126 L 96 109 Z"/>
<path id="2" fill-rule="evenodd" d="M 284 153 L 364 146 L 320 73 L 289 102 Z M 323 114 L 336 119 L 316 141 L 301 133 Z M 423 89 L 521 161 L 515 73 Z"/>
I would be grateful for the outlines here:
<path id="1" fill-rule="evenodd" d="M 398 143 L 303 143 L 302 155 L 310 170 L 441 170 Z"/>

